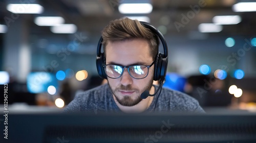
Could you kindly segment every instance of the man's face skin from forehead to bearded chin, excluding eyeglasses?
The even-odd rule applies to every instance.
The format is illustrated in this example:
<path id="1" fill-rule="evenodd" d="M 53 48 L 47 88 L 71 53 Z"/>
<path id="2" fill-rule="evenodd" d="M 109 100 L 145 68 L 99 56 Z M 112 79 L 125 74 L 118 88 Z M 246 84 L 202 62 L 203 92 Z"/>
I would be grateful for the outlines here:
<path id="1" fill-rule="evenodd" d="M 154 61 L 150 54 L 150 47 L 147 41 L 143 39 L 109 42 L 106 45 L 105 55 L 106 64 L 119 66 L 148 66 Z M 108 77 L 108 83 L 113 95 L 121 105 L 134 106 L 142 100 L 140 98 L 141 93 L 151 89 L 153 75 L 154 65 L 143 79 L 131 77 L 125 68 L 121 77 L 116 79 Z"/>

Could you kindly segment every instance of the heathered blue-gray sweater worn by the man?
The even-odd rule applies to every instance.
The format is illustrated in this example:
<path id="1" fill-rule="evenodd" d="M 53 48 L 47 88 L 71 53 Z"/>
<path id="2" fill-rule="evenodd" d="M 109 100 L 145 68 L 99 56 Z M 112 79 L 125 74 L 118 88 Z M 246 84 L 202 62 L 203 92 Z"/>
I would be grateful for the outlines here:
<path id="1" fill-rule="evenodd" d="M 155 86 L 157 89 L 158 87 Z M 159 97 L 158 97 L 159 96 Z M 157 98 L 158 97 L 158 98 Z M 72 112 L 120 112 L 116 105 L 108 84 L 100 85 L 94 89 L 77 95 L 72 102 L 63 110 L 65 113 Z M 162 88 L 155 95 L 153 102 L 145 112 L 168 111 L 168 112 L 204 112 L 198 101 L 184 93 Z"/>

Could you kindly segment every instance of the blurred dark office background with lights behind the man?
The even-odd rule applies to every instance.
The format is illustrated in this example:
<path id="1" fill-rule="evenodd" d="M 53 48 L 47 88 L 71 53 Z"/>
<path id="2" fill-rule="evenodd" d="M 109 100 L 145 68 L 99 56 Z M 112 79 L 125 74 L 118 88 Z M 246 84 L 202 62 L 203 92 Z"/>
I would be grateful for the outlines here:
<path id="1" fill-rule="evenodd" d="M 122 17 L 150 22 L 164 35 L 165 88 L 203 108 L 255 110 L 256 3 L 247 0 L 1 1 L 0 84 L 3 95 L 8 83 L 8 105 L 61 110 L 102 84 L 98 40 L 109 21 Z"/>

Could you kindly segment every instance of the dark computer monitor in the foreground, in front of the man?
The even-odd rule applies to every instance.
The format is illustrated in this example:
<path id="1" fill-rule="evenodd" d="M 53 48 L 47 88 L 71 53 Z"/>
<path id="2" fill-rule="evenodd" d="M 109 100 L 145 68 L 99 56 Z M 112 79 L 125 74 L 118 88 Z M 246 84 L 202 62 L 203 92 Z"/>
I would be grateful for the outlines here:
<path id="1" fill-rule="evenodd" d="M 15 113 L 8 115 L 8 137 L 8 142 L 37 143 L 255 142 L 256 114 Z"/>

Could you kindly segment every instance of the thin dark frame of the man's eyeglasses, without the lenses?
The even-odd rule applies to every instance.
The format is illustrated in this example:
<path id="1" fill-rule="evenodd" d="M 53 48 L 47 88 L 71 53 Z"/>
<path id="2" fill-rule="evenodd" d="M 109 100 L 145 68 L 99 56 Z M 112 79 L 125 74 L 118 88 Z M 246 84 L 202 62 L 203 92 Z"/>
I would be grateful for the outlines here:
<path id="1" fill-rule="evenodd" d="M 114 65 L 114 66 L 119 66 L 119 67 L 121 67 L 122 68 L 122 73 L 120 74 L 120 76 L 118 76 L 118 77 L 110 77 L 108 74 L 106 74 L 106 76 L 108 76 L 109 78 L 112 78 L 112 79 L 117 79 L 117 78 L 120 78 L 122 75 L 123 75 L 123 71 L 124 71 L 124 69 L 126 69 L 127 68 L 127 71 L 128 71 L 128 73 L 129 73 L 129 75 L 132 77 L 132 78 L 134 78 L 134 79 L 143 79 L 143 78 L 146 78 L 147 77 L 147 75 L 148 75 L 148 71 L 150 71 L 150 67 L 152 67 L 154 64 L 155 64 L 155 61 L 156 60 L 154 60 L 150 65 L 148 65 L 148 66 L 146 66 L 146 65 L 132 65 L 132 66 L 120 66 L 120 65 L 114 65 L 114 64 L 102 64 L 102 66 L 103 66 L 103 68 L 104 68 L 104 70 L 105 70 L 105 68 L 106 68 L 106 66 L 108 66 L 108 65 Z M 142 78 L 135 78 L 135 77 L 133 77 L 132 76 L 132 74 L 130 73 L 130 67 L 133 67 L 133 66 L 145 66 L 146 68 L 147 68 L 147 74 L 146 74 L 146 76 L 145 77 L 142 77 Z M 106 72 L 106 71 L 105 71 Z"/>

